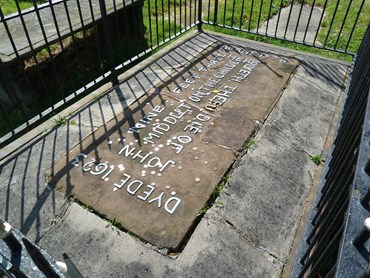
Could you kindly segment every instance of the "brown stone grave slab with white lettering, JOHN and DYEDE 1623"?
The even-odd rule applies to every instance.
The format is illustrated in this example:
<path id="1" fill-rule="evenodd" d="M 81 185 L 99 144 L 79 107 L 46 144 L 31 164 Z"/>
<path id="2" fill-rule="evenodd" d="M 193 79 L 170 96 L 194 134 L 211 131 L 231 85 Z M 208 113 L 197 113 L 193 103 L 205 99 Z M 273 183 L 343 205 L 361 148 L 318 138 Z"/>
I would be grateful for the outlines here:
<path id="1" fill-rule="evenodd" d="M 297 65 L 217 46 L 80 142 L 50 184 L 176 250 Z"/>

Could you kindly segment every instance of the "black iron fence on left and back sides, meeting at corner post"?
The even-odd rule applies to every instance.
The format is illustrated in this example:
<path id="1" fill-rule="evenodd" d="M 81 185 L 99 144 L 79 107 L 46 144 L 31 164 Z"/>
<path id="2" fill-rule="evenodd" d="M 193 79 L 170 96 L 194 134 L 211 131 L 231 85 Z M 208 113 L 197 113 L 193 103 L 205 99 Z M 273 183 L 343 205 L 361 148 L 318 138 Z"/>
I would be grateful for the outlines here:
<path id="1" fill-rule="evenodd" d="M 117 83 L 195 26 L 354 54 L 370 8 L 366 0 L 40 1 L 0 1 L 13 4 L 0 5 L 1 146 L 104 82 Z"/>

